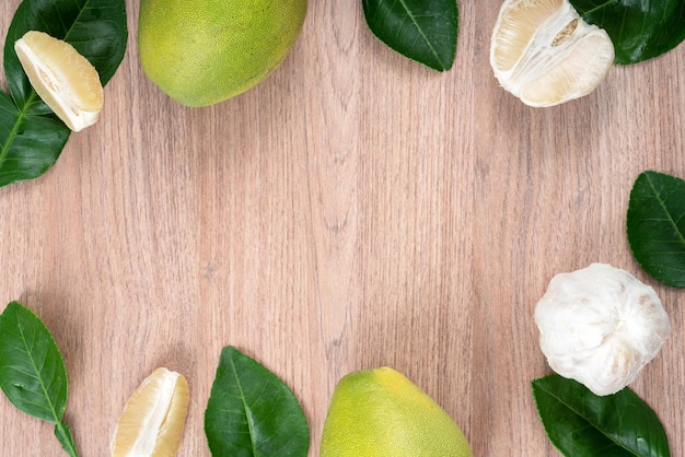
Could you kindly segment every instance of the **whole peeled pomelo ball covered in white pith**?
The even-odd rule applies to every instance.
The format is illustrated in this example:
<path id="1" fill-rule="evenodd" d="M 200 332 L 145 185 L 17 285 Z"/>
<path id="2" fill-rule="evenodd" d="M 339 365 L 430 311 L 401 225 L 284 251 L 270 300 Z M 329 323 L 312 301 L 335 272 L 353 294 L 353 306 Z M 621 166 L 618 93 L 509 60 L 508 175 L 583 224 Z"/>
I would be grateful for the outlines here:
<path id="1" fill-rule="evenodd" d="M 654 290 L 605 263 L 554 277 L 535 324 L 552 370 L 599 396 L 632 383 L 671 335 Z"/>

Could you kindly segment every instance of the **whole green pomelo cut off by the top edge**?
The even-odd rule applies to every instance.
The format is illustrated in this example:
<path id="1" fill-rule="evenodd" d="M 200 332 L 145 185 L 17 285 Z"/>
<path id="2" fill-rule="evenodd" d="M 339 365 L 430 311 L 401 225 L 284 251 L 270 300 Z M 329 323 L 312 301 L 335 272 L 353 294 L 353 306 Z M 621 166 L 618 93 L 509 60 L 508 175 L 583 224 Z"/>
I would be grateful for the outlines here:
<path id="1" fill-rule="evenodd" d="M 306 0 L 141 0 L 142 70 L 182 105 L 223 102 L 283 61 L 306 8 Z"/>

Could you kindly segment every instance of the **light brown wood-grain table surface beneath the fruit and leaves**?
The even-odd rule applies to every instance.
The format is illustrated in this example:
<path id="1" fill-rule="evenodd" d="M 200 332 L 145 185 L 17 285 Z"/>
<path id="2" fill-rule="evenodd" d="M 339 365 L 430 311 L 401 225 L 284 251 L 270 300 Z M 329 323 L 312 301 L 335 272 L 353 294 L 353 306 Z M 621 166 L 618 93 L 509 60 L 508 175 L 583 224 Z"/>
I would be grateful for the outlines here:
<path id="1" fill-rule="evenodd" d="M 19 3 L 0 3 L 3 38 Z M 101 120 L 43 177 L 0 189 L 0 309 L 19 300 L 53 332 L 81 455 L 108 454 L 158 366 L 191 389 L 179 455 L 209 455 L 204 411 L 231 344 L 292 388 L 312 456 L 337 380 L 382 365 L 443 406 L 476 456 L 557 456 L 531 395 L 550 373 L 532 315 L 554 274 L 593 261 L 654 286 L 670 314 L 631 387 L 685 455 L 685 295 L 640 270 L 625 224 L 639 173 L 685 177 L 685 47 L 529 108 L 492 77 L 496 3 L 460 2 L 456 61 L 439 73 L 380 43 L 360 1 L 311 0 L 271 77 L 193 109 L 143 74 L 126 1 Z M 0 455 L 60 455 L 51 425 L 4 396 L 0 417 Z"/>

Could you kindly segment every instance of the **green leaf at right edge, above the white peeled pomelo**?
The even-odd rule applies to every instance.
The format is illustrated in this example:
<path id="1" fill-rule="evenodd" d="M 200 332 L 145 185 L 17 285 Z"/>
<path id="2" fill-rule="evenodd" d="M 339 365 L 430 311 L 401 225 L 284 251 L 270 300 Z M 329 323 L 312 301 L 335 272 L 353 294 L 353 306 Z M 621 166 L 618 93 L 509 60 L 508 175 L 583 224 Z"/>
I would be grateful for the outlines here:
<path id="1" fill-rule="evenodd" d="M 641 173 L 630 191 L 626 225 L 642 269 L 666 285 L 685 288 L 685 181 Z"/>

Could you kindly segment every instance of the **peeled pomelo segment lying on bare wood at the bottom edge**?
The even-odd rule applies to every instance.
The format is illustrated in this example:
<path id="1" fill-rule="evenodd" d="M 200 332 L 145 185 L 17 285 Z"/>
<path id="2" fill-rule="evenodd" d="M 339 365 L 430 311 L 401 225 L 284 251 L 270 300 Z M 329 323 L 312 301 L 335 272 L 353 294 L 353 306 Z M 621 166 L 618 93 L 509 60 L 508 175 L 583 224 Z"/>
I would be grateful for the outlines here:
<path id="1" fill-rule="evenodd" d="M 175 456 L 188 411 L 183 375 L 158 368 L 133 391 L 109 444 L 113 457 Z"/>

